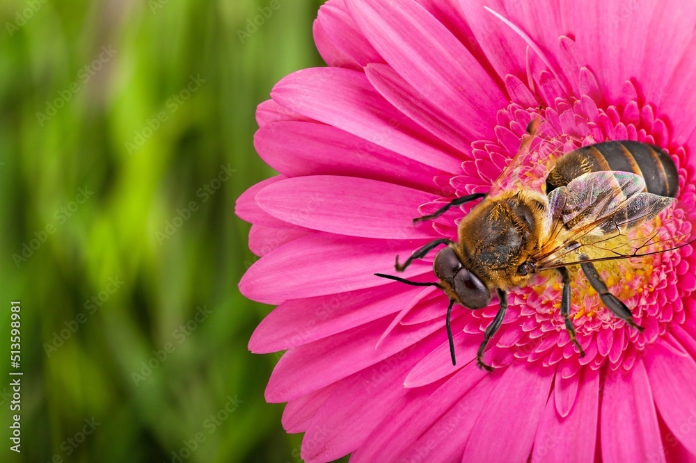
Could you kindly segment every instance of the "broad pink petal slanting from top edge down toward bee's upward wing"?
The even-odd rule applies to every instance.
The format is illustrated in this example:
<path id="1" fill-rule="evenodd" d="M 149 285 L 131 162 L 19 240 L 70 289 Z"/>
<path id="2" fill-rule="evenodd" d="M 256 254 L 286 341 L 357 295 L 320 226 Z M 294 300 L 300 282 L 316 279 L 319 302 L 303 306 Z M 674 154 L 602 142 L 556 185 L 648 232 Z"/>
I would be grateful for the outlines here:
<path id="1" fill-rule="evenodd" d="M 464 138 L 491 137 L 491 116 L 507 100 L 445 26 L 413 0 L 346 4 L 367 40 L 422 99 L 432 101 L 448 121 L 463 122 L 455 128 Z"/>

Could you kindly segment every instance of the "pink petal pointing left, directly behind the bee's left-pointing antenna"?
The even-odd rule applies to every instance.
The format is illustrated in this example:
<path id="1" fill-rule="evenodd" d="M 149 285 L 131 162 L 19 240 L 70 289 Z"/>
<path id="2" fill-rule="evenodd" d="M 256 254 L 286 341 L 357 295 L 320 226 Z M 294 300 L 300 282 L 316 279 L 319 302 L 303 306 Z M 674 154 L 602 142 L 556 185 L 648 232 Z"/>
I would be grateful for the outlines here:
<path id="1" fill-rule="evenodd" d="M 381 286 L 388 280 L 374 273 L 393 274 L 395 256 L 400 255 L 403 260 L 425 243 L 325 233 L 307 236 L 256 261 L 239 282 L 239 291 L 249 299 L 278 304 L 288 299 L 333 294 L 337 287 L 352 291 Z M 301 272 L 297 271 L 298 259 L 303 261 Z M 432 265 L 416 261 L 402 277 L 431 272 Z"/>

